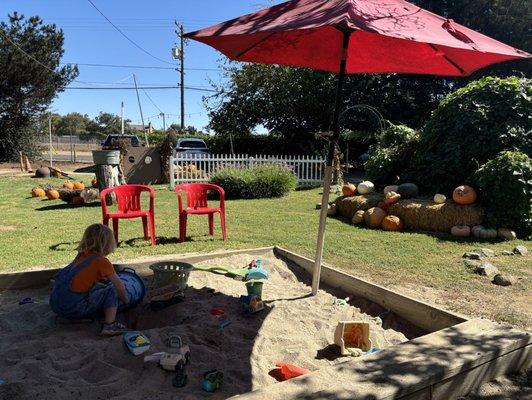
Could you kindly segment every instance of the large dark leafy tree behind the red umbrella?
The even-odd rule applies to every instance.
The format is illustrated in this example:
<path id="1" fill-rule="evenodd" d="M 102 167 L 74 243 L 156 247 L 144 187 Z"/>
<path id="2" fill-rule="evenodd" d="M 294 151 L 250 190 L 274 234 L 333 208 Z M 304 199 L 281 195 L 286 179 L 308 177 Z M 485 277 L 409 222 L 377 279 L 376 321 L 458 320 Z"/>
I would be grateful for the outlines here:
<path id="1" fill-rule="evenodd" d="M 532 51 L 532 2 L 525 0 L 418 0 L 420 7 L 454 18 L 460 23 Z M 421 75 L 351 75 L 344 87 L 340 125 L 365 151 L 377 140 L 374 118 L 356 108 L 369 105 L 394 124 L 421 128 L 439 102 L 453 90 L 488 74 L 530 75 L 528 60 L 482 69 L 472 77 L 442 78 Z M 257 126 L 298 143 L 301 151 L 321 147 L 314 133 L 328 130 L 332 120 L 336 76 L 303 68 L 261 64 L 230 64 L 227 83 L 214 86 L 206 98 L 210 125 L 219 135 L 246 136 Z"/>

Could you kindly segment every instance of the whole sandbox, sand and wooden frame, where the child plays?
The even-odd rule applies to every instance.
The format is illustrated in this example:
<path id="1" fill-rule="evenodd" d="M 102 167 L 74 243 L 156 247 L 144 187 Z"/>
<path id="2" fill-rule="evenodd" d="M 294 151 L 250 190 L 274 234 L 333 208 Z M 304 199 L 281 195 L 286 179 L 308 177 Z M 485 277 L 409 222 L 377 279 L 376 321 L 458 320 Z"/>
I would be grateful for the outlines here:
<path id="1" fill-rule="evenodd" d="M 129 315 L 128 322 L 152 341 L 149 353 L 164 351 L 165 339 L 174 334 L 190 346 L 184 388 L 172 386 L 172 373 L 128 353 L 121 337 L 99 337 L 97 322 L 57 319 L 47 304 L 56 270 L 0 275 L 0 379 L 5 381 L 0 398 L 450 399 L 531 365 L 528 333 L 468 320 L 334 268 L 324 266 L 324 290 L 311 297 L 312 260 L 277 247 L 165 256 L 121 266 L 146 276 L 148 266 L 161 259 L 234 268 L 256 257 L 271 273 L 263 293 L 266 309 L 258 314 L 242 312 L 242 282 L 193 272 L 184 302 Z M 18 304 L 28 296 L 37 302 Z M 349 305 L 336 304 L 346 296 Z M 225 311 L 223 320 L 210 314 L 213 307 Z M 368 322 L 381 351 L 339 356 L 333 333 L 345 319 Z M 221 329 L 223 321 L 230 324 Z M 277 360 L 312 372 L 277 382 Z M 219 391 L 207 394 L 201 376 L 213 368 L 221 369 L 225 380 Z"/>

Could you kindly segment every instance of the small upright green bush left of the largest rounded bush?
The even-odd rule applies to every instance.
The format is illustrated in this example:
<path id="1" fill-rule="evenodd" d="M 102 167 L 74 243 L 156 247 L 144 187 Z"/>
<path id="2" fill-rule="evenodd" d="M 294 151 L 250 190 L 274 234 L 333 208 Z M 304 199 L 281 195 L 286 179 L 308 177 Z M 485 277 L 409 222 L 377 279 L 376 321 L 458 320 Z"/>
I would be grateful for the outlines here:
<path id="1" fill-rule="evenodd" d="M 419 133 L 405 125 L 390 124 L 378 140 L 377 148 L 364 164 L 366 177 L 377 185 L 394 183 L 408 167 Z"/>

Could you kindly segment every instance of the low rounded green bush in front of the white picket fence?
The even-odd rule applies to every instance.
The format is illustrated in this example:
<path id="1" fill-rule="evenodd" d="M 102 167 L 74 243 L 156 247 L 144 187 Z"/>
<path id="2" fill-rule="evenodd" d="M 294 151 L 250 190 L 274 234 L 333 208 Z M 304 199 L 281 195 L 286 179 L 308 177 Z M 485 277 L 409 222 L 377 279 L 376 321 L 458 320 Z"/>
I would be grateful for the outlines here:
<path id="1" fill-rule="evenodd" d="M 232 199 L 281 197 L 297 185 L 290 169 L 275 164 L 223 168 L 212 175 L 211 182 L 223 187 Z"/>

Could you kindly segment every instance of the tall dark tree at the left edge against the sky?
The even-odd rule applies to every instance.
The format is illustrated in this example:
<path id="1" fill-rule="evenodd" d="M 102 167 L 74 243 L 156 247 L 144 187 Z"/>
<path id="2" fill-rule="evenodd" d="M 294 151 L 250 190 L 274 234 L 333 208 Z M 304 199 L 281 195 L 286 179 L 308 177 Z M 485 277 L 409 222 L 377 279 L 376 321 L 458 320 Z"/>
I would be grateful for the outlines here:
<path id="1" fill-rule="evenodd" d="M 63 43 L 63 32 L 39 17 L 13 13 L 0 22 L 0 160 L 38 151 L 40 115 L 78 75 L 75 66 L 59 66 Z"/>

